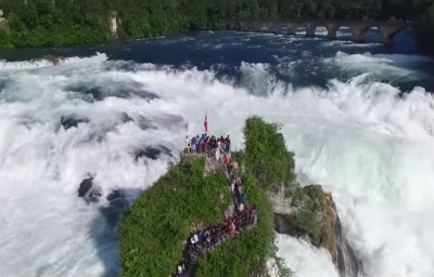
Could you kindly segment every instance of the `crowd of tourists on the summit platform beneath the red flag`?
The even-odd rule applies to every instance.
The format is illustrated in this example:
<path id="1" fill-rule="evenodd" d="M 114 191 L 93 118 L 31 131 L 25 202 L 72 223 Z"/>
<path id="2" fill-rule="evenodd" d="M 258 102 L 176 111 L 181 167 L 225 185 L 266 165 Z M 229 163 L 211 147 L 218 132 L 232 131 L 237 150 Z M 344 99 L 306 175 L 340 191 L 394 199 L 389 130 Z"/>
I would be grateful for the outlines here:
<path id="1" fill-rule="evenodd" d="M 227 135 L 224 137 L 209 136 L 207 134 L 196 135 L 193 137 L 186 136 L 186 148 L 184 153 L 206 153 L 207 148 L 219 149 L 221 153 L 230 153 L 230 137 Z"/>

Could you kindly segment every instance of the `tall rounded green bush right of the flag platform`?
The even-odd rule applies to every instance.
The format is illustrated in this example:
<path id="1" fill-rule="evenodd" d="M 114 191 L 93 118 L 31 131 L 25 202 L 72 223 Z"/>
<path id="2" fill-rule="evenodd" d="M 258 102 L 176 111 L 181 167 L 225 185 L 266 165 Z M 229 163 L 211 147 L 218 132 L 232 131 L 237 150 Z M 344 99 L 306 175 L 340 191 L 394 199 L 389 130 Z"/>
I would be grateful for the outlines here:
<path id="1" fill-rule="evenodd" d="M 245 121 L 245 150 L 238 158 L 264 188 L 275 188 L 295 180 L 294 153 L 289 151 L 277 123 L 253 116 Z M 235 155 L 237 157 L 237 155 Z"/>

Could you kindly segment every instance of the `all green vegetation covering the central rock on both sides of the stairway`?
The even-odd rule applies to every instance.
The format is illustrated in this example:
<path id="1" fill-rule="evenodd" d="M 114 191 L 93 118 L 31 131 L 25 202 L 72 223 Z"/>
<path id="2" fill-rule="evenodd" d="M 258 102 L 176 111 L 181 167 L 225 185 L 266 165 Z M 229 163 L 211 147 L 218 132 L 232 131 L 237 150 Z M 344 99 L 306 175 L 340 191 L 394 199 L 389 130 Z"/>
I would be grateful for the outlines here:
<path id="1" fill-rule="evenodd" d="M 286 150 L 283 137 L 277 131 L 278 126 L 267 124 L 258 117 L 246 120 L 244 135 L 252 154 L 246 150 L 233 156 L 245 158 L 248 170 L 240 177 L 248 203 L 256 209 L 257 226 L 200 259 L 195 276 L 266 276 L 269 258 L 277 260 L 281 277 L 292 276 L 283 261 L 276 258 L 272 207 L 264 189 L 294 177 L 291 168 L 294 164 L 293 154 Z M 257 140 L 261 143 L 255 147 Z M 268 161 L 281 167 L 281 170 L 265 164 L 260 170 L 260 164 L 253 157 L 265 153 Z M 280 166 L 269 154 L 280 155 L 279 159 L 288 160 Z M 229 186 L 222 171 L 205 175 L 204 170 L 204 158 L 183 157 L 122 215 L 122 276 L 169 276 L 182 258 L 183 242 L 192 228 L 199 224 L 210 226 L 222 222 L 224 212 L 232 200 Z M 267 170 L 271 170 L 271 173 L 259 173 Z M 283 172 L 285 170 L 291 173 Z M 269 184 L 263 185 L 259 180 Z"/>

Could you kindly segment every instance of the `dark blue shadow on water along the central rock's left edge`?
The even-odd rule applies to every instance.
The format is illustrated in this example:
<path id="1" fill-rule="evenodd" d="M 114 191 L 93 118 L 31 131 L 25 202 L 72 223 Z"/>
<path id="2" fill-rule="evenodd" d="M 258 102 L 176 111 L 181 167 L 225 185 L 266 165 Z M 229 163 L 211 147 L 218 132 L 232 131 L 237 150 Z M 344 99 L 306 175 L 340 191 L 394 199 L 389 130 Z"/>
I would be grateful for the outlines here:
<path id="1" fill-rule="evenodd" d="M 95 248 L 95 255 L 102 262 L 104 273 L 101 277 L 117 277 L 122 272 L 119 241 L 117 237 L 118 217 L 132 203 L 141 189 L 127 188 L 114 190 L 106 199 L 101 199 L 98 216 L 91 224 L 90 237 Z"/>

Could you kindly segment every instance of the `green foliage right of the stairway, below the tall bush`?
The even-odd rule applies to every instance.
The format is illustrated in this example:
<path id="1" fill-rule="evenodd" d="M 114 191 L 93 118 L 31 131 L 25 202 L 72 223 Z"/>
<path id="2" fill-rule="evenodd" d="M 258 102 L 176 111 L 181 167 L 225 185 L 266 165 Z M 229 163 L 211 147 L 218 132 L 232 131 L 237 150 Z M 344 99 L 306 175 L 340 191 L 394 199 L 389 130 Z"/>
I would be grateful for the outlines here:
<path id="1" fill-rule="evenodd" d="M 264 190 L 251 175 L 242 177 L 248 202 L 256 208 L 257 227 L 243 233 L 217 248 L 206 259 L 200 260 L 197 277 L 250 277 L 264 271 L 266 258 L 273 249 L 273 214 Z"/>

